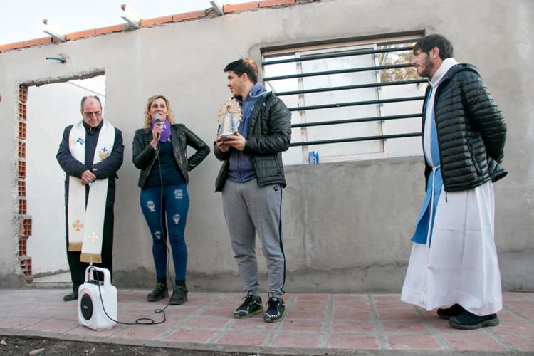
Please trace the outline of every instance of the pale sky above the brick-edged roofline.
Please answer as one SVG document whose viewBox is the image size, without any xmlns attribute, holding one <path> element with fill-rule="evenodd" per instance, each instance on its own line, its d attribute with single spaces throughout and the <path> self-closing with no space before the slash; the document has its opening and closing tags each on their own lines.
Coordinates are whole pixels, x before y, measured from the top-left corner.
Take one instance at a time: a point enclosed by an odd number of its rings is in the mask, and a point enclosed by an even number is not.
<svg viewBox="0 0 534 356">
<path fill-rule="evenodd" d="M 48 36 L 43 32 L 43 19 L 57 23 L 67 33 L 125 23 L 120 18 L 120 4 L 131 6 L 142 19 L 211 7 L 209 0 L 0 0 L 0 44 Z"/>
</svg>

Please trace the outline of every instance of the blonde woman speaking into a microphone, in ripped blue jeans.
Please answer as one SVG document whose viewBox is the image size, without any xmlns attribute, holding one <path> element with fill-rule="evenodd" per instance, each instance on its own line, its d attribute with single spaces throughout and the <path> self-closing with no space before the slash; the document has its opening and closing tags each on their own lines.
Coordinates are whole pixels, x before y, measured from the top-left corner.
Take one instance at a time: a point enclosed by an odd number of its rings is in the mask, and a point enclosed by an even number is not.
<svg viewBox="0 0 534 356">
<path fill-rule="evenodd" d="M 187 158 L 187 146 L 197 152 Z M 133 163 L 141 169 L 139 187 L 143 215 L 152 235 L 152 255 L 157 284 L 147 295 L 151 302 L 167 298 L 167 239 L 169 239 L 176 284 L 171 304 L 187 300 L 187 246 L 184 237 L 189 194 L 188 172 L 209 155 L 209 147 L 185 125 L 174 123 L 169 100 L 163 95 L 149 98 L 145 125 L 135 132 Z"/>
</svg>

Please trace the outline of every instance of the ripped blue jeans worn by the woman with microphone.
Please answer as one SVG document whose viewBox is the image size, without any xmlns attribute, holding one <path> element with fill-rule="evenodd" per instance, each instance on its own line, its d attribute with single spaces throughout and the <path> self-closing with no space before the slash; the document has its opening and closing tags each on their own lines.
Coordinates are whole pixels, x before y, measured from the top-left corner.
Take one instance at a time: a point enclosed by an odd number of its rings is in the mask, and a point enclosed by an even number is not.
<svg viewBox="0 0 534 356">
<path fill-rule="evenodd" d="M 163 198 L 163 199 L 162 199 Z M 141 210 L 152 235 L 152 255 L 157 278 L 167 277 L 167 236 L 171 244 L 176 279 L 185 281 L 187 246 L 185 223 L 189 210 L 189 194 L 185 184 L 141 189 Z"/>
</svg>

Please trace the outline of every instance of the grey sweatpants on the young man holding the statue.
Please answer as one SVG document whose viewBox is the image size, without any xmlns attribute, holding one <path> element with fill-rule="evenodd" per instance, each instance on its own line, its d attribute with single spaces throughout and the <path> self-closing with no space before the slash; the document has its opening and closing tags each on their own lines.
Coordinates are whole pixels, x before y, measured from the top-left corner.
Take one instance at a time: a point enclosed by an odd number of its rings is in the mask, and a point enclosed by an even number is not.
<svg viewBox="0 0 534 356">
<path fill-rule="evenodd" d="M 224 217 L 243 290 L 253 290 L 254 295 L 258 295 L 259 288 L 256 234 L 267 260 L 269 292 L 277 298 L 284 293 L 286 257 L 280 216 L 282 191 L 280 184 L 258 188 L 256 179 L 245 183 L 227 180 L 222 191 Z"/>
</svg>

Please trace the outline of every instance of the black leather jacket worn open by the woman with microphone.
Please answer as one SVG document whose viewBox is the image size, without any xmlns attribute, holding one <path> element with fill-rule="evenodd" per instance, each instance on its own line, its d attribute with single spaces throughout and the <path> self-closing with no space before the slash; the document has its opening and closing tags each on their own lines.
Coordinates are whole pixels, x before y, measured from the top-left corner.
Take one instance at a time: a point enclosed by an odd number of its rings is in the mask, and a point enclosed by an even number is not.
<svg viewBox="0 0 534 356">
<path fill-rule="evenodd" d="M 138 183 L 141 188 L 145 186 L 150 169 L 152 169 L 157 158 L 157 155 L 155 155 L 156 150 L 152 148 L 150 141 L 152 141 L 152 132 L 145 129 L 135 131 L 132 159 L 135 167 L 141 169 Z M 182 124 L 171 125 L 171 143 L 174 159 L 176 159 L 180 172 L 182 172 L 187 184 L 189 183 L 187 172 L 197 167 L 209 155 L 209 146 Z M 187 146 L 197 150 L 189 159 L 186 152 Z"/>
</svg>

